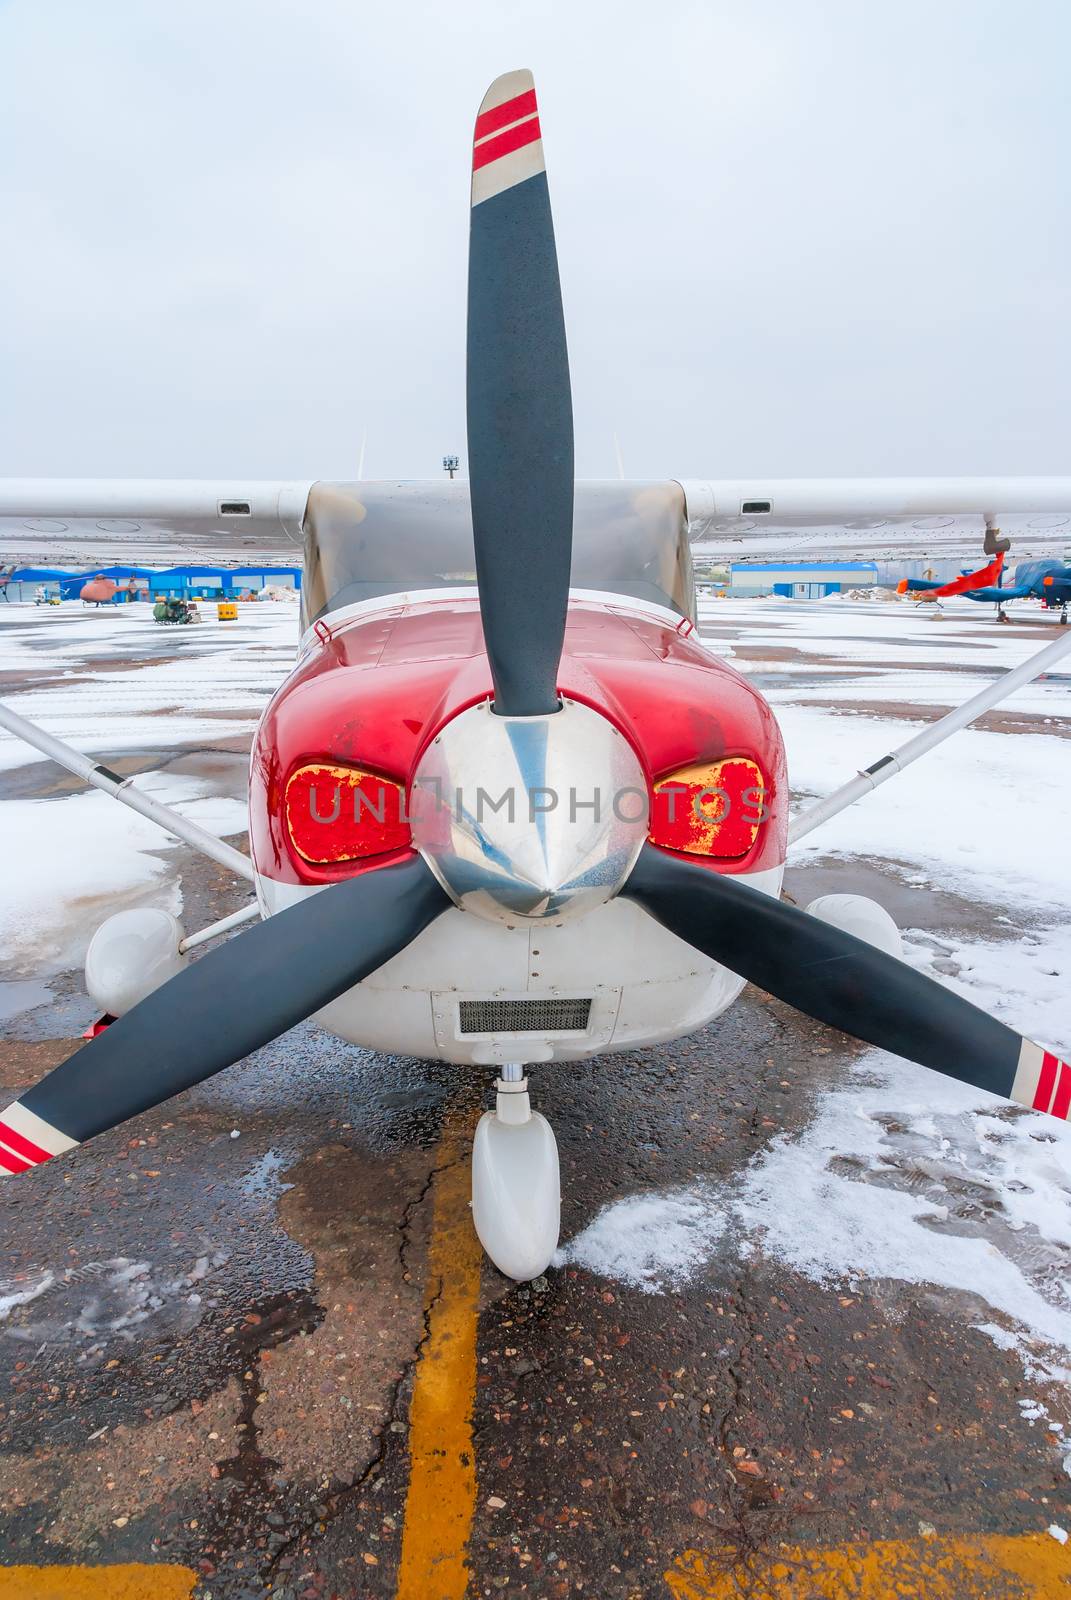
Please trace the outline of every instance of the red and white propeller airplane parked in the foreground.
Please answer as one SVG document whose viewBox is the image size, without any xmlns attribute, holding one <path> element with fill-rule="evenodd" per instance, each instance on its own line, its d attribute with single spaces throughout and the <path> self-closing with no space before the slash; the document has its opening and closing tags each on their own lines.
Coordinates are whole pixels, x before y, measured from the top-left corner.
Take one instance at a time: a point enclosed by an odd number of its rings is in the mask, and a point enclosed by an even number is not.
<svg viewBox="0 0 1071 1600">
<path fill-rule="evenodd" d="M 1066 1118 L 1071 1064 L 906 965 L 880 906 L 780 894 L 792 838 L 1071 637 L 789 818 L 770 706 L 696 634 L 690 539 L 772 515 L 1066 515 L 1071 480 L 575 483 L 530 72 L 498 78 L 475 122 L 467 443 L 467 483 L 0 485 L 0 533 L 53 518 L 67 538 L 85 525 L 218 550 L 237 525 L 245 544 L 301 538 L 306 573 L 298 659 L 253 742 L 251 859 L 0 707 L 3 726 L 256 891 L 191 938 L 157 909 L 98 930 L 86 987 L 117 1021 L 0 1114 L 0 1168 L 27 1173 L 312 1018 L 341 1040 L 496 1070 L 472 1214 L 495 1264 L 531 1278 L 554 1254 L 560 1195 L 525 1069 L 690 1034 L 748 981 Z"/>
</svg>

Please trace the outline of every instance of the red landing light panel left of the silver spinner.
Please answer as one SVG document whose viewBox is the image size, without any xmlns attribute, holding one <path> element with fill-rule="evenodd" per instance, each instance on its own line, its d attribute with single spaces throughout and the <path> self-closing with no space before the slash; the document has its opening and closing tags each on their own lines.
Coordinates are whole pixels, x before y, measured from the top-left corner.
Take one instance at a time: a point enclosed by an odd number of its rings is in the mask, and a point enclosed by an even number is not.
<svg viewBox="0 0 1071 1600">
<path fill-rule="evenodd" d="M 359 766 L 298 766 L 287 782 L 285 810 L 295 850 L 314 866 L 411 843 L 402 786 Z"/>
</svg>

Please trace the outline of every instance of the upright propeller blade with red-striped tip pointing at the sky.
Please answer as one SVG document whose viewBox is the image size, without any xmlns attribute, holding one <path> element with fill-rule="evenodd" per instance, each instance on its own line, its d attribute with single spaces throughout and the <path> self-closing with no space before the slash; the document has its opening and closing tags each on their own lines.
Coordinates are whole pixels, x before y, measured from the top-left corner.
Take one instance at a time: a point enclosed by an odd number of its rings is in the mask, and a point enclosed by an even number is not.
<svg viewBox="0 0 1071 1600">
<path fill-rule="evenodd" d="M 573 402 L 530 72 L 483 96 L 472 146 L 469 493 L 501 717 L 559 709 L 573 547 Z"/>
</svg>

